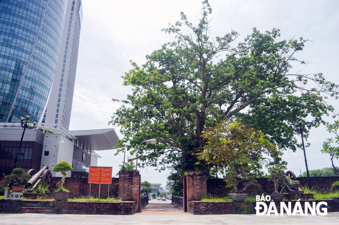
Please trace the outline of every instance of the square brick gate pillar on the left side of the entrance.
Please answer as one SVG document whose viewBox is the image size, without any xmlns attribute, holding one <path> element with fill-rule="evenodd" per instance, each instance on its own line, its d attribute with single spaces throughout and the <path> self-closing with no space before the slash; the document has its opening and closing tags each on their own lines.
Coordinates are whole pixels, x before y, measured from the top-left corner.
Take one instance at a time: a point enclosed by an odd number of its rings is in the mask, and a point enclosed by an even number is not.
<svg viewBox="0 0 339 225">
<path fill-rule="evenodd" d="M 139 171 L 119 172 L 118 197 L 127 201 L 136 201 L 140 209 L 140 175 Z"/>
</svg>

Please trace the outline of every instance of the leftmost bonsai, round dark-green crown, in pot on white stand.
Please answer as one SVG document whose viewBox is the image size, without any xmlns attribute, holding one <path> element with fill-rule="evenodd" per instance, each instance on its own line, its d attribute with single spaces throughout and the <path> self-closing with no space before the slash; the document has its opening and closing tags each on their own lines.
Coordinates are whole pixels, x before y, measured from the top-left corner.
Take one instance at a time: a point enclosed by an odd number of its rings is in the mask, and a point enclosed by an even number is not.
<svg viewBox="0 0 339 225">
<path fill-rule="evenodd" d="M 10 175 L 5 176 L 5 180 L 0 185 L 12 187 L 11 200 L 22 200 L 24 185 L 30 177 L 23 168 L 15 168 Z"/>
</svg>

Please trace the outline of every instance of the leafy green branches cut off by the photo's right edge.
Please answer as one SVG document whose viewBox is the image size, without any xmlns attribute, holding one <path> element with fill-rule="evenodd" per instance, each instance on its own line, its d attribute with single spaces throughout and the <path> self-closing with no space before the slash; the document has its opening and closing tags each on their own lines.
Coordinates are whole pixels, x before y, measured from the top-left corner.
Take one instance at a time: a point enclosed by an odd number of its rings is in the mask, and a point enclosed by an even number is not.
<svg viewBox="0 0 339 225">
<path fill-rule="evenodd" d="M 326 139 L 326 141 L 323 143 L 323 148 L 321 150 L 322 153 L 329 154 L 331 157 L 332 167 L 335 171 L 339 172 L 339 169 L 334 166 L 333 159 L 339 159 L 339 146 L 333 146 L 333 143 L 335 141 L 335 144 L 339 142 L 339 135 L 338 135 L 338 129 L 339 129 L 339 120 L 334 120 L 334 124 L 328 124 L 326 125 L 326 130 L 329 133 L 335 133 L 336 137 Z"/>
</svg>

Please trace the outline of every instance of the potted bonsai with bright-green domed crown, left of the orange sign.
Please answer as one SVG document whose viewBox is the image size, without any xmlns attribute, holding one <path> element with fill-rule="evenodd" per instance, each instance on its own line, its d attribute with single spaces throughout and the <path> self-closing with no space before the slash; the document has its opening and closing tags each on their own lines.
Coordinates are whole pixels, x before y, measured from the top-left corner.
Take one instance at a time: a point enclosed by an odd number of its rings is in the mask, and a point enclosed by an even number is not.
<svg viewBox="0 0 339 225">
<path fill-rule="evenodd" d="M 65 183 L 67 172 L 73 170 L 73 168 L 68 162 L 63 161 L 61 163 L 56 164 L 52 170 L 54 172 L 61 172 L 61 174 L 63 175 L 61 181 L 56 184 L 56 186 L 58 186 L 59 189 L 54 191 L 53 193 L 54 199 L 56 201 L 65 201 L 69 198 L 69 191 L 63 187 L 63 184 Z"/>
</svg>

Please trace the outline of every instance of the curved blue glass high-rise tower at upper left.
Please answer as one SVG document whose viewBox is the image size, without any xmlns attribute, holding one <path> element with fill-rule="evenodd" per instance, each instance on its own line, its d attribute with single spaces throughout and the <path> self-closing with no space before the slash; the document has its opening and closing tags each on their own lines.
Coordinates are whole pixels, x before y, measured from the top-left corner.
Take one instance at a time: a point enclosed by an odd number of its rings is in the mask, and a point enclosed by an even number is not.
<svg viewBox="0 0 339 225">
<path fill-rule="evenodd" d="M 58 64 L 67 0 L 0 1 L 0 122 L 41 119 Z M 67 34 L 66 34 L 67 35 Z"/>
</svg>

